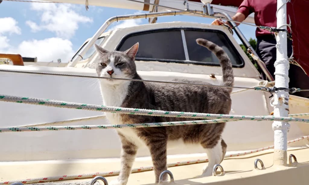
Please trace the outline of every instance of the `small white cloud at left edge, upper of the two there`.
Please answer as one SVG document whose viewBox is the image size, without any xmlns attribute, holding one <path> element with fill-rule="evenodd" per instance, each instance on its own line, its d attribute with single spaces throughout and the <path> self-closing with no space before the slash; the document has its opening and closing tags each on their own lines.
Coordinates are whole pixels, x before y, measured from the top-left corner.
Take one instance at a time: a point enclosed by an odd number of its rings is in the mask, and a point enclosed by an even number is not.
<svg viewBox="0 0 309 185">
<path fill-rule="evenodd" d="M 0 35 L 12 33 L 21 34 L 21 29 L 17 26 L 17 21 L 12 17 L 0 18 Z"/>
</svg>

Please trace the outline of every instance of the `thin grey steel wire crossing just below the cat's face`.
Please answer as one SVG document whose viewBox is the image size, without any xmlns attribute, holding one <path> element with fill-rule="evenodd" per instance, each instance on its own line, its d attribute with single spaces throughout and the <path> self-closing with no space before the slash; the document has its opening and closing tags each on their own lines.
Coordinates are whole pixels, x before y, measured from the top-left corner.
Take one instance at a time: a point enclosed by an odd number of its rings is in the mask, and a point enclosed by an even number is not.
<svg viewBox="0 0 309 185">
<path fill-rule="evenodd" d="M 29 71 L 14 71 L 14 70 L 6 70 L 6 69 L 0 69 L 0 72 L 23 73 L 23 74 L 41 74 L 41 75 L 55 75 L 55 76 L 81 77 L 81 78 L 125 80 L 125 81 L 135 81 L 135 82 L 170 83 L 170 84 L 184 84 L 184 85 L 196 85 L 196 86 L 226 87 L 226 88 L 259 90 L 259 89 L 256 89 L 254 87 L 238 87 L 238 86 L 229 87 L 229 86 L 219 86 L 219 85 L 212 85 L 212 84 L 202 84 L 202 83 L 167 82 L 167 81 L 142 80 L 142 79 L 132 79 L 132 78 L 111 78 L 111 77 L 99 77 L 99 76 L 87 76 L 87 75 L 75 75 L 75 74 L 57 74 L 57 73 L 41 73 L 41 72 L 29 72 Z"/>
</svg>

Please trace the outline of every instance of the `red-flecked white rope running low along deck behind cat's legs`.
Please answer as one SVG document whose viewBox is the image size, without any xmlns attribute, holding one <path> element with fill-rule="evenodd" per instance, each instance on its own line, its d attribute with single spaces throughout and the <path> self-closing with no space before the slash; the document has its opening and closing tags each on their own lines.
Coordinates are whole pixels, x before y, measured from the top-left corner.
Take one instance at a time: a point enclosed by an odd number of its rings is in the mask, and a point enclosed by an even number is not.
<svg viewBox="0 0 309 185">
<path fill-rule="evenodd" d="M 291 141 L 288 141 L 287 143 L 295 143 L 304 139 L 309 138 L 309 136 L 303 136 Z M 224 158 L 231 158 L 231 157 L 238 157 L 243 155 L 248 155 L 252 153 L 257 153 L 260 151 L 264 151 L 267 149 L 273 149 L 273 145 L 258 148 L 258 149 L 252 149 L 240 153 L 232 153 L 232 154 L 226 154 Z M 182 162 L 173 162 L 168 163 L 167 167 L 176 167 L 176 166 L 184 166 L 184 165 L 191 165 L 191 164 L 198 164 L 198 163 L 204 163 L 208 162 L 208 159 L 197 159 L 197 160 L 190 160 L 190 161 L 182 161 Z M 153 166 L 146 166 L 146 167 L 140 167 L 140 168 L 134 168 L 132 169 L 132 173 L 138 173 L 143 171 L 151 171 L 153 170 Z M 64 180 L 71 180 L 71 179 L 90 179 L 95 176 L 103 176 L 103 177 L 110 177 L 110 176 L 116 176 L 119 175 L 120 171 L 109 171 L 109 172 L 97 172 L 97 173 L 89 173 L 89 174 L 76 174 L 76 175 L 61 175 L 61 176 L 54 176 L 54 177 L 44 177 L 44 178 L 33 178 L 33 179 L 24 179 L 24 180 L 14 180 L 14 181 L 6 181 L 1 182 L 0 185 L 8 185 L 14 182 L 21 182 L 23 184 L 31 184 L 31 183 L 44 183 L 44 182 L 52 182 L 52 181 L 64 181 Z"/>
</svg>

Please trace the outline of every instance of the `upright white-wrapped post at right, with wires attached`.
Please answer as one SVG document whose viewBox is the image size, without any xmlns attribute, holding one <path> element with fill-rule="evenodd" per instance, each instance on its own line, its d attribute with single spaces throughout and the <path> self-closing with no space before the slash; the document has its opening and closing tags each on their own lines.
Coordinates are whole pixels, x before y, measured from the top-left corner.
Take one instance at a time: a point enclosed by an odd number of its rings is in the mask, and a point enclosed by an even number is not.
<svg viewBox="0 0 309 185">
<path fill-rule="evenodd" d="M 277 0 L 277 28 L 286 29 L 286 0 Z M 275 61 L 275 86 L 289 87 L 289 67 L 287 60 L 287 35 L 280 31 L 276 34 L 277 60 Z M 289 92 L 278 90 L 274 95 L 274 116 L 288 116 L 289 114 Z M 290 124 L 287 122 L 274 121 L 274 165 L 287 164 L 287 132 Z"/>
</svg>

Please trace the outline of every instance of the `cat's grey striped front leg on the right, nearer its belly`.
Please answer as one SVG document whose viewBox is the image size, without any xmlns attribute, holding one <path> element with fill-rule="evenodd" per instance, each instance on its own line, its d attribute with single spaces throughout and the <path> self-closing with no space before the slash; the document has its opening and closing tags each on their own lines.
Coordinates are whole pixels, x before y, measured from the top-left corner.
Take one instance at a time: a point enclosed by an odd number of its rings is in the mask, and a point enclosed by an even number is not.
<svg viewBox="0 0 309 185">
<path fill-rule="evenodd" d="M 156 133 L 158 134 L 158 133 Z M 155 135 L 155 134 L 154 134 Z M 152 163 L 155 171 L 155 183 L 159 183 L 159 175 L 167 169 L 167 137 L 161 135 L 159 137 L 152 137 L 148 139 L 147 145 L 150 149 Z M 167 175 L 164 175 L 163 181 L 167 180 Z"/>
</svg>

